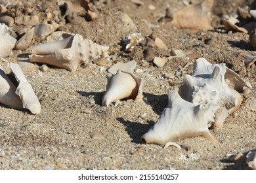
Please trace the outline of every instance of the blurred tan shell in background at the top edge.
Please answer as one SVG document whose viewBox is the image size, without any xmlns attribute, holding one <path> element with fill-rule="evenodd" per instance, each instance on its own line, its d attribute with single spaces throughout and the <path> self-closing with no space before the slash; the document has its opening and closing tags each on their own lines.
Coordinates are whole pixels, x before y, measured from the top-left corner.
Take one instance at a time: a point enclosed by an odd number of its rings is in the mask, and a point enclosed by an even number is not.
<svg viewBox="0 0 256 183">
<path fill-rule="evenodd" d="M 212 29 L 210 12 L 213 0 L 205 0 L 196 5 L 177 10 L 173 14 L 172 24 L 180 29 L 189 29 L 195 33 L 199 29 Z"/>
</svg>

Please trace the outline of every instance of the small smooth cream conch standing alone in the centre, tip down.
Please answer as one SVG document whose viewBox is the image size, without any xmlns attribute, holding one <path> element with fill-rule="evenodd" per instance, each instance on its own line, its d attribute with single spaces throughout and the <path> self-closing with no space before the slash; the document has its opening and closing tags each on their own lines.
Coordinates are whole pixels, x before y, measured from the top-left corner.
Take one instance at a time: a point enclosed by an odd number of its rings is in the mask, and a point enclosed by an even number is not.
<svg viewBox="0 0 256 183">
<path fill-rule="evenodd" d="M 102 97 L 102 106 L 108 105 L 115 100 L 120 99 L 135 99 L 142 100 L 142 79 L 133 75 L 118 70 L 116 75 L 107 75 L 108 84 L 106 93 Z"/>
</svg>

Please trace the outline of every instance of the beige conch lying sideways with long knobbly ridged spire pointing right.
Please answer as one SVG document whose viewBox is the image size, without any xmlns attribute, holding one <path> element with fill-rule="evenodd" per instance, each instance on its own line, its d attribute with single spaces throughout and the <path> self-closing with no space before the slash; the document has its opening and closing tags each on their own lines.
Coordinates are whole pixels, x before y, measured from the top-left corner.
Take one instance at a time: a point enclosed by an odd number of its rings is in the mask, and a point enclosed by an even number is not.
<svg viewBox="0 0 256 183">
<path fill-rule="evenodd" d="M 56 67 L 76 71 L 81 63 L 105 54 L 108 46 L 100 46 L 85 39 L 81 35 L 73 35 L 66 39 L 34 46 L 30 61 L 47 63 Z"/>
</svg>

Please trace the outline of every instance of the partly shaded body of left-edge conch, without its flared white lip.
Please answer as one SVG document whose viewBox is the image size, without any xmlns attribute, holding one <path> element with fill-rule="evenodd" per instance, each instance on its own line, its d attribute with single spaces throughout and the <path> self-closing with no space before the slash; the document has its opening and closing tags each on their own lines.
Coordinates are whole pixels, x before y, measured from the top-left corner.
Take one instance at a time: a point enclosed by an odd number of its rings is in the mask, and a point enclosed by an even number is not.
<svg viewBox="0 0 256 183">
<path fill-rule="evenodd" d="M 9 77 L 3 71 L 0 64 L 0 103 L 7 107 L 15 108 L 18 110 L 23 109 L 22 100 L 16 95 L 16 86 L 11 82 Z"/>
</svg>

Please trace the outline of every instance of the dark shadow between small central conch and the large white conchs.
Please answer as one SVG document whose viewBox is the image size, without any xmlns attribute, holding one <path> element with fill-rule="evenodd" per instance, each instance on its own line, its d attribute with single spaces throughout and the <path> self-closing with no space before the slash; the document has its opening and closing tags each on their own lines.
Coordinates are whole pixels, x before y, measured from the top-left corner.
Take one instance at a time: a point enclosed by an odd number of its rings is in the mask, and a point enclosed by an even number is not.
<svg viewBox="0 0 256 183">
<path fill-rule="evenodd" d="M 144 101 L 152 107 L 156 114 L 160 115 L 163 109 L 168 105 L 168 95 L 154 95 L 152 93 L 143 93 Z"/>
</svg>

